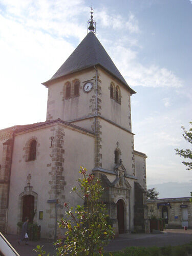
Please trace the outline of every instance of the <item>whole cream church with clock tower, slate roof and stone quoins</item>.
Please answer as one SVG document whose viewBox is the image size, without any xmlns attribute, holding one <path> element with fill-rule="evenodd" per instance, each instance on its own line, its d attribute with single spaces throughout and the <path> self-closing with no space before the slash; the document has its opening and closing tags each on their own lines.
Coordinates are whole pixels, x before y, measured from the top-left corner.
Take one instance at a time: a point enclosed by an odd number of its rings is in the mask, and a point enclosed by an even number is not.
<svg viewBox="0 0 192 256">
<path fill-rule="evenodd" d="M 130 88 L 95 35 L 88 33 L 46 82 L 45 122 L 0 131 L 0 230 L 18 233 L 29 217 L 54 238 L 80 166 L 101 179 L 115 234 L 146 232 L 146 155 L 134 150 Z M 57 219 L 56 219 L 57 218 Z M 61 230 L 57 228 L 57 235 Z"/>
</svg>

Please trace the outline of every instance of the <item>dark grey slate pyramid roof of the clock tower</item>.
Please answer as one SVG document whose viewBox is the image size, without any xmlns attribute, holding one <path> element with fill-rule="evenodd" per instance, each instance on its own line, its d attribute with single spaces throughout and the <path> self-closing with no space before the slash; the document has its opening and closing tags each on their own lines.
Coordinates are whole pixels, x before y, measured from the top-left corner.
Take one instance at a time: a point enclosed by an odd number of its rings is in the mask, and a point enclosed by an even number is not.
<svg viewBox="0 0 192 256">
<path fill-rule="evenodd" d="M 88 33 L 87 36 L 84 37 L 74 52 L 57 70 L 52 78 L 42 84 L 46 85 L 47 82 L 56 78 L 72 74 L 95 65 L 100 65 L 103 69 L 119 79 L 127 87 L 127 89 L 131 91 L 132 94 L 136 93 L 129 87 L 110 56 L 101 45 L 100 41 L 92 32 Z"/>
</svg>

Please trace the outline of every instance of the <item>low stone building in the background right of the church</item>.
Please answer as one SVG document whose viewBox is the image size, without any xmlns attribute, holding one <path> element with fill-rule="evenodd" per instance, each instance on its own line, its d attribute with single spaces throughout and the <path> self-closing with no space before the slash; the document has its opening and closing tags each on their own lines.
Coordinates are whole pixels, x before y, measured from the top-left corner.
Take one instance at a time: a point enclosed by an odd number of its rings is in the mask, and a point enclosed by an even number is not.
<svg viewBox="0 0 192 256">
<path fill-rule="evenodd" d="M 148 218 L 164 218 L 167 228 L 192 228 L 192 204 L 189 197 L 147 200 Z"/>
</svg>

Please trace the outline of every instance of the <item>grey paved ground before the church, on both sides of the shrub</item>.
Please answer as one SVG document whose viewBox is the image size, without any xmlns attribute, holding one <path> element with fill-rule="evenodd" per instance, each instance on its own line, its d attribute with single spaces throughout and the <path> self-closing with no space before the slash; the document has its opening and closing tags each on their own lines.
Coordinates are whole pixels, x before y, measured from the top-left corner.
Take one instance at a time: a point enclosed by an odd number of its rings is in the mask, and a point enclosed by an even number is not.
<svg viewBox="0 0 192 256">
<path fill-rule="evenodd" d="M 37 255 L 32 251 L 36 245 L 44 245 L 46 251 L 50 252 L 50 256 L 54 255 L 53 241 L 41 239 L 40 241 L 29 241 L 29 245 L 18 245 L 17 236 L 7 234 L 7 240 L 20 254 L 20 256 Z M 160 234 L 121 234 L 106 246 L 106 251 L 116 251 L 127 246 L 165 246 L 165 245 L 181 245 L 192 241 L 192 229 L 165 229 Z"/>
</svg>

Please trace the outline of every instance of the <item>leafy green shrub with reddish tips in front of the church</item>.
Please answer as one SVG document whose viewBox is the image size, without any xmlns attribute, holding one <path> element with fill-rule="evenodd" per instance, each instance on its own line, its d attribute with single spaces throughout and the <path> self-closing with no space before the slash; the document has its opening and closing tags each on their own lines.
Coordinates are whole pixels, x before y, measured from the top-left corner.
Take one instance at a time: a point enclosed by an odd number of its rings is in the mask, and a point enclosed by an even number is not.
<svg viewBox="0 0 192 256">
<path fill-rule="evenodd" d="M 114 236 L 113 228 L 109 224 L 109 215 L 106 206 L 101 202 L 104 188 L 100 180 L 93 174 L 87 175 L 87 169 L 81 167 L 82 178 L 78 179 L 79 187 L 73 187 L 72 192 L 76 193 L 84 205 L 66 207 L 66 219 L 59 222 L 59 227 L 66 231 L 65 241 L 57 240 L 56 255 L 103 255 L 103 246 Z M 38 255 L 45 255 L 42 246 L 35 249 Z M 48 254 L 49 255 L 49 254 Z"/>
</svg>

